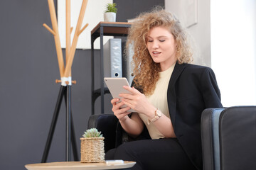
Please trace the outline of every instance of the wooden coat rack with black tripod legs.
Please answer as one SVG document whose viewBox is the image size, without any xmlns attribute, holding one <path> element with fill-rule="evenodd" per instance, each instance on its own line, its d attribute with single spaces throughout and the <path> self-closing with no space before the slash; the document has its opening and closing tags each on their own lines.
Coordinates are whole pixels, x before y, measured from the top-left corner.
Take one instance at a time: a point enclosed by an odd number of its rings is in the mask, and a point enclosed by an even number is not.
<svg viewBox="0 0 256 170">
<path fill-rule="evenodd" d="M 53 0 L 48 0 L 48 6 L 50 11 L 50 20 L 53 26 L 51 29 L 46 23 L 43 23 L 43 26 L 53 34 L 55 40 L 55 48 L 58 57 L 58 67 L 60 69 L 60 80 L 56 80 L 56 83 L 60 84 L 60 91 L 58 94 L 57 103 L 55 105 L 55 111 L 53 113 L 53 119 L 50 125 L 50 130 L 48 133 L 48 138 L 46 141 L 46 147 L 43 152 L 42 163 L 46 162 L 48 157 L 48 152 L 50 149 L 50 144 L 53 139 L 53 133 L 55 130 L 55 125 L 58 119 L 58 113 L 60 111 L 61 101 L 65 97 L 65 106 L 66 106 L 66 137 L 65 137 L 65 161 L 70 162 L 71 160 L 71 142 L 73 146 L 73 154 L 75 161 L 78 161 L 78 152 L 75 142 L 75 130 L 73 126 L 73 118 L 71 113 L 71 86 L 76 84 L 76 81 L 72 81 L 71 78 L 71 67 L 73 64 L 73 59 L 75 56 L 75 49 L 78 44 L 78 37 L 85 28 L 87 28 L 88 23 L 81 29 L 82 20 L 85 16 L 85 8 L 87 6 L 87 0 L 82 1 L 82 6 L 78 18 L 78 23 L 75 28 L 75 35 L 73 37 L 73 42 L 71 45 L 70 34 L 73 28 L 70 27 L 70 0 L 66 0 L 66 49 L 65 49 L 65 58 L 66 64 L 64 65 L 63 61 L 63 52 L 60 47 L 60 35 L 58 33 L 58 23 L 55 12 L 55 6 Z M 70 46 L 71 45 L 71 46 Z M 71 141 L 72 140 L 72 141 Z"/>
</svg>

